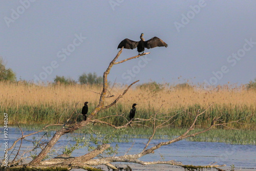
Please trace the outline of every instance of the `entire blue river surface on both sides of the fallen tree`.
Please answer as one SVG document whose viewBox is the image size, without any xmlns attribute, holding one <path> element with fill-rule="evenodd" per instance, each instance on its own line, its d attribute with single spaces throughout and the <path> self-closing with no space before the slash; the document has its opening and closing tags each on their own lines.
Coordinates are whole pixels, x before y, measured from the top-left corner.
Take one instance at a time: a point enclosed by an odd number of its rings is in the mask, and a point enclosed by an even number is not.
<svg viewBox="0 0 256 171">
<path fill-rule="evenodd" d="M 1 140 L 4 142 L 4 129 L 1 130 Z M 24 135 L 30 134 L 32 131 L 25 131 Z M 51 134 L 51 136 L 53 133 Z M 12 143 L 20 137 L 20 131 L 14 127 L 9 127 L 8 129 L 8 146 L 10 147 Z M 34 136 L 30 136 L 27 139 L 32 140 L 33 137 L 35 139 L 39 139 L 40 135 L 36 134 Z M 50 139 L 50 137 L 49 137 Z M 63 147 L 68 143 L 74 143 L 74 141 L 70 140 L 69 136 L 62 136 L 59 140 L 59 143 L 56 144 L 55 149 L 61 154 Z M 44 140 L 44 139 L 42 139 Z M 45 139 L 46 140 L 46 139 Z M 124 155 L 129 148 L 133 145 L 130 151 L 127 154 L 135 154 L 140 152 L 147 142 L 147 139 L 132 139 L 133 142 L 118 142 L 118 154 Z M 167 140 L 152 140 L 151 144 L 157 144 L 162 141 Z M 134 143 L 134 144 L 133 144 Z M 16 149 L 18 149 L 20 143 L 17 143 Z M 115 146 L 116 143 L 112 143 L 111 145 Z M 29 141 L 23 141 L 22 150 L 26 150 L 28 148 L 32 148 L 32 144 Z M 151 147 L 151 146 L 150 146 Z M 0 156 L 4 156 L 4 144 L 1 143 L 0 146 Z M 37 153 L 40 151 L 37 151 Z M 88 152 L 87 148 L 76 149 L 72 156 L 81 156 Z M 10 155 L 11 152 L 8 152 Z M 12 156 L 14 157 L 14 156 Z M 3 158 L 3 157 L 2 157 Z M 176 160 L 182 162 L 183 164 L 191 164 L 191 165 L 208 165 L 210 163 L 217 162 L 217 164 L 222 165 L 226 164 L 226 166 L 222 167 L 223 169 L 229 169 L 230 165 L 235 166 L 235 170 L 256 170 L 256 145 L 234 145 L 234 144 L 226 144 L 226 143 L 218 143 L 218 142 L 194 142 L 194 141 L 186 141 L 181 140 L 170 145 L 162 146 L 155 151 L 154 154 L 146 155 L 140 158 L 142 161 L 168 161 L 168 160 Z M 137 164 L 131 163 L 113 163 L 114 165 L 126 166 L 132 165 L 133 170 L 184 170 L 183 168 L 177 168 L 169 165 L 151 165 L 151 166 L 141 166 Z M 78 169 L 76 169 L 78 170 Z M 108 170 L 108 169 L 107 169 Z"/>
</svg>

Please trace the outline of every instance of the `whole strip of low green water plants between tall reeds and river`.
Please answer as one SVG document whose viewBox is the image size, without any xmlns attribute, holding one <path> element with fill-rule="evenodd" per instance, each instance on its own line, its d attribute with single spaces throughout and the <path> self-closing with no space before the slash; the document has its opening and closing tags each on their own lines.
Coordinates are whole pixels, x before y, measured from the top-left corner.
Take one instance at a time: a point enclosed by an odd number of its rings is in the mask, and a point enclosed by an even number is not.
<svg viewBox="0 0 256 171">
<path fill-rule="evenodd" d="M 21 125 L 23 127 L 23 131 L 35 131 L 40 130 L 44 125 Z M 59 126 L 49 127 L 49 130 L 58 129 Z M 87 133 L 88 127 L 83 130 L 76 131 L 75 133 Z M 114 129 L 109 126 L 99 126 L 92 125 L 93 132 L 100 133 L 101 135 L 108 134 Z M 187 129 L 178 129 L 178 128 L 165 128 L 157 130 L 154 139 L 163 139 L 170 140 L 182 135 Z M 190 131 L 190 133 L 201 131 L 202 129 L 195 129 Z M 17 129 L 17 131 L 19 131 Z M 50 136 L 53 136 L 54 132 L 50 132 Z M 90 134 L 85 134 L 86 138 L 90 138 Z M 115 133 L 116 137 L 114 138 L 115 142 L 132 142 L 134 138 L 148 138 L 152 135 L 152 129 L 148 127 L 127 127 L 120 132 Z M 187 138 L 187 141 L 203 141 L 203 142 L 224 142 L 229 144 L 250 144 L 256 145 L 256 132 L 255 131 L 240 131 L 240 130 L 226 130 L 226 129 L 212 129 L 208 132 L 202 133 L 195 137 Z"/>
</svg>

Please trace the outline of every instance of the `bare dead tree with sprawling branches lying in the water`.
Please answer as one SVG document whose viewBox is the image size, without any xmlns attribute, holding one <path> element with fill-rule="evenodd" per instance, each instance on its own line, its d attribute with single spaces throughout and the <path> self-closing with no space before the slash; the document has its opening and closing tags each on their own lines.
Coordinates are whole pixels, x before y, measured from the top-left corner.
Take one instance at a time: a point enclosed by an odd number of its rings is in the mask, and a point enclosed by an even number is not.
<svg viewBox="0 0 256 171">
<path fill-rule="evenodd" d="M 110 62 L 109 67 L 106 69 L 106 71 L 103 74 L 103 90 L 100 94 L 100 99 L 99 99 L 99 104 L 96 106 L 96 108 L 91 112 L 91 115 L 88 117 L 88 119 L 86 121 L 81 121 L 81 122 L 76 122 L 75 124 L 72 125 L 68 125 L 68 124 L 51 124 L 51 125 L 61 125 L 61 129 L 59 129 L 58 131 L 56 131 L 56 133 L 53 135 L 53 137 L 51 138 L 51 140 L 49 142 L 47 142 L 45 144 L 45 146 L 41 149 L 41 152 L 28 164 L 23 164 L 23 165 L 18 165 L 20 160 L 14 160 L 12 162 L 9 163 L 9 166 L 12 169 L 19 169 L 21 167 L 23 168 L 28 168 L 28 169 L 48 169 L 49 167 L 54 170 L 58 170 L 58 169 L 66 169 L 66 170 L 70 170 L 72 168 L 83 168 L 86 170 L 100 170 L 100 169 L 96 169 L 93 166 L 97 166 L 99 164 L 104 164 L 112 169 L 117 169 L 113 164 L 113 162 L 131 162 L 131 163 L 138 163 L 138 164 L 142 164 L 142 165 L 150 165 L 150 164 L 170 164 L 170 165 L 176 165 L 176 166 L 181 166 L 184 168 L 188 168 L 188 167 L 193 167 L 193 168 L 217 168 L 220 167 L 222 165 L 214 165 L 214 164 L 210 164 L 210 165 L 206 165 L 206 166 L 187 166 L 187 165 L 183 165 L 181 162 L 176 162 L 176 161 L 152 161 L 152 162 L 145 162 L 145 161 L 141 161 L 139 160 L 140 157 L 147 155 L 147 154 L 151 154 L 154 153 L 154 151 L 158 148 L 160 148 L 163 145 L 168 145 L 177 141 L 180 141 L 182 139 L 188 138 L 188 137 L 194 137 L 197 136 L 198 134 L 204 133 L 206 131 L 209 131 L 210 129 L 212 129 L 212 127 L 216 126 L 216 125 L 226 125 L 228 123 L 217 123 L 217 121 L 219 120 L 219 118 L 215 118 L 214 120 L 212 120 L 211 125 L 208 126 L 207 129 L 200 131 L 200 132 L 196 132 L 196 133 L 190 133 L 191 130 L 194 129 L 195 123 L 197 121 L 197 118 L 200 115 L 203 115 L 205 113 L 205 111 L 208 109 L 206 109 L 203 112 L 198 112 L 197 116 L 194 118 L 194 122 L 190 125 L 190 127 L 187 129 L 186 132 L 184 132 L 181 136 L 179 136 L 178 138 L 174 138 L 172 140 L 168 140 L 165 142 L 160 142 L 157 145 L 154 145 L 151 148 L 148 148 L 148 145 L 150 145 L 151 140 L 153 139 L 156 130 L 160 129 L 162 127 L 166 127 L 169 124 L 171 124 L 172 122 L 170 122 L 175 115 L 179 115 L 179 113 L 175 114 L 174 116 L 170 116 L 170 117 L 161 117 L 162 114 L 158 114 L 155 113 L 154 115 L 151 116 L 150 119 L 140 119 L 137 118 L 135 120 L 132 121 L 127 121 L 126 124 L 122 125 L 122 126 L 116 126 L 113 125 L 111 123 L 102 121 L 100 119 L 96 119 L 96 115 L 99 111 L 104 110 L 104 109 L 108 109 L 111 106 L 113 106 L 115 103 L 118 102 L 118 100 L 120 98 L 122 98 L 124 96 L 124 94 L 131 88 L 131 86 L 133 86 L 133 84 L 135 84 L 136 82 L 138 82 L 139 80 L 133 82 L 130 84 L 130 86 L 128 86 L 123 93 L 121 93 L 118 97 L 115 98 L 115 100 L 110 103 L 109 105 L 105 105 L 104 101 L 105 98 L 108 97 L 108 95 L 106 95 L 106 93 L 108 92 L 108 74 L 110 73 L 111 68 L 114 65 L 117 65 L 119 63 L 125 62 L 127 60 L 131 60 L 143 55 L 146 55 L 148 53 L 143 53 L 131 58 L 127 58 L 124 59 L 122 61 L 116 62 L 116 60 L 118 59 L 119 55 L 121 54 L 122 49 L 118 52 L 118 54 L 116 55 L 116 57 Z M 210 107 L 210 106 L 209 106 Z M 73 116 L 73 113 L 71 114 L 70 118 Z M 122 115 L 119 115 L 120 117 L 124 117 Z M 116 117 L 116 116 L 115 116 Z M 69 120 L 69 119 L 68 119 Z M 153 133 L 152 136 L 148 139 L 148 142 L 146 143 L 144 149 L 142 149 L 141 152 L 137 153 L 137 154 L 132 154 L 132 155 L 123 155 L 123 156 L 113 156 L 113 157 L 104 157 L 104 158 L 96 158 L 99 154 L 103 153 L 106 149 L 108 149 L 110 147 L 110 144 L 101 144 L 100 146 L 98 146 L 96 149 L 94 149 L 93 151 L 89 152 L 88 154 L 85 154 L 83 156 L 79 156 L 79 157 L 70 157 L 70 156 L 65 156 L 65 155 L 61 155 L 49 160 L 44 160 L 42 161 L 47 155 L 48 153 L 51 151 L 51 149 L 54 147 L 54 145 L 56 144 L 56 142 L 60 139 L 61 136 L 68 134 L 68 133 L 72 133 L 76 130 L 82 129 L 84 126 L 88 125 L 89 123 L 92 122 L 98 122 L 101 124 L 106 124 L 109 126 L 114 127 L 115 129 L 120 129 L 122 127 L 127 127 L 130 124 L 136 124 L 138 122 L 141 121 L 149 121 L 152 123 L 152 127 L 153 127 Z M 174 120 L 175 121 L 175 120 Z M 173 122 L 174 122 L 173 121 Z M 44 131 L 48 126 L 45 126 L 41 131 L 38 132 L 42 132 Z M 20 129 L 21 130 L 21 129 Z M 22 131 L 22 130 L 21 130 Z M 38 133 L 36 132 L 36 133 Z M 22 132 L 23 133 L 23 132 Z M 36 133 L 32 133 L 30 135 L 36 134 Z M 8 151 L 10 151 L 12 148 L 14 148 L 15 144 L 18 141 L 22 141 L 24 138 L 26 138 L 27 136 L 30 135 L 22 135 L 22 137 L 18 138 L 13 145 L 8 149 Z M 2 164 L 2 168 L 3 168 L 3 164 Z"/>
</svg>

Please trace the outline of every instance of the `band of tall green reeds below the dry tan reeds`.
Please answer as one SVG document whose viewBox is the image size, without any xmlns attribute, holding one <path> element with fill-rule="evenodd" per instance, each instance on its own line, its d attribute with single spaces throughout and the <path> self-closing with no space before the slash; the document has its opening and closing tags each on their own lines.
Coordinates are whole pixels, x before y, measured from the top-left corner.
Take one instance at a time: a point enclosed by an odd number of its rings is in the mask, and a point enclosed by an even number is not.
<svg viewBox="0 0 256 171">
<path fill-rule="evenodd" d="M 94 104 L 89 106 L 89 112 L 93 110 Z M 193 120 L 197 114 L 198 109 L 200 111 L 204 111 L 205 109 L 200 106 L 199 104 L 196 105 L 189 105 L 187 108 L 173 108 L 169 109 L 169 111 L 177 111 L 181 112 L 185 110 L 185 112 L 180 113 L 179 115 L 175 116 L 170 122 L 173 122 L 176 120 L 170 127 L 173 128 L 185 128 L 188 127 L 191 123 L 193 123 Z M 70 114 L 73 111 L 73 105 L 68 105 L 62 103 L 62 105 L 56 105 L 56 104 L 40 104 L 40 105 L 19 105 L 19 106 L 8 106 L 7 109 L 3 109 L 0 106 L 0 113 L 8 113 L 9 118 L 9 125 L 15 125 L 15 121 L 18 121 L 22 124 L 50 124 L 50 123 L 56 123 L 58 122 L 60 116 L 60 123 L 64 123 L 70 116 Z M 140 109 L 137 108 L 136 116 L 135 118 L 143 118 L 148 119 L 150 118 L 157 109 L 151 108 L 148 106 L 148 109 Z M 174 116 L 177 112 L 168 112 L 166 114 L 163 114 L 162 116 Z M 76 114 L 81 113 L 81 109 L 76 109 L 75 115 L 73 116 L 71 122 L 74 122 L 76 118 Z M 125 109 L 124 106 L 121 104 L 117 104 L 113 106 L 113 108 L 110 108 L 108 110 L 100 111 L 96 118 L 101 118 L 105 116 L 111 116 L 111 115 L 120 115 L 123 114 L 128 119 L 129 118 L 129 110 Z M 196 127 L 199 128 L 205 128 L 211 124 L 211 120 L 214 117 L 221 117 L 225 122 L 231 122 L 238 119 L 241 119 L 243 117 L 255 114 L 256 111 L 254 110 L 254 107 L 251 106 L 236 106 L 232 104 L 227 105 L 212 105 L 210 109 L 206 111 L 205 114 L 198 117 L 198 120 L 196 122 Z M 82 117 L 78 117 L 78 122 L 82 120 Z M 114 116 L 105 118 L 104 121 L 110 122 L 115 125 L 123 125 L 126 123 L 126 120 L 122 117 Z M 241 120 L 240 123 L 232 123 L 229 124 L 230 127 L 234 127 L 236 129 L 243 129 L 243 130 L 256 130 L 256 117 L 249 116 L 245 119 Z M 3 124 L 3 120 L 0 120 L 0 123 Z M 145 124 L 147 126 L 151 126 L 150 122 L 142 122 L 142 124 Z"/>
</svg>

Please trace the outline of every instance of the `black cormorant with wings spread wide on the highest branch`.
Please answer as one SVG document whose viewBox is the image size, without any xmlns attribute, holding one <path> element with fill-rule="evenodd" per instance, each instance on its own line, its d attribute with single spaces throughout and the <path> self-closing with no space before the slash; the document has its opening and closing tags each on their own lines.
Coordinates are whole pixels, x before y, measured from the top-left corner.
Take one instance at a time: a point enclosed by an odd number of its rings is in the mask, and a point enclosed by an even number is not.
<svg viewBox="0 0 256 171">
<path fill-rule="evenodd" d="M 150 48 L 155 48 L 155 47 L 165 47 L 167 48 L 167 44 L 161 40 L 158 37 L 153 37 L 147 41 L 142 37 L 144 34 L 141 33 L 140 35 L 140 41 L 133 41 L 128 38 L 123 39 L 120 44 L 118 45 L 118 48 L 125 48 L 125 49 L 135 49 L 137 48 L 139 54 L 140 52 L 144 53 L 145 48 L 150 49 Z"/>
</svg>

